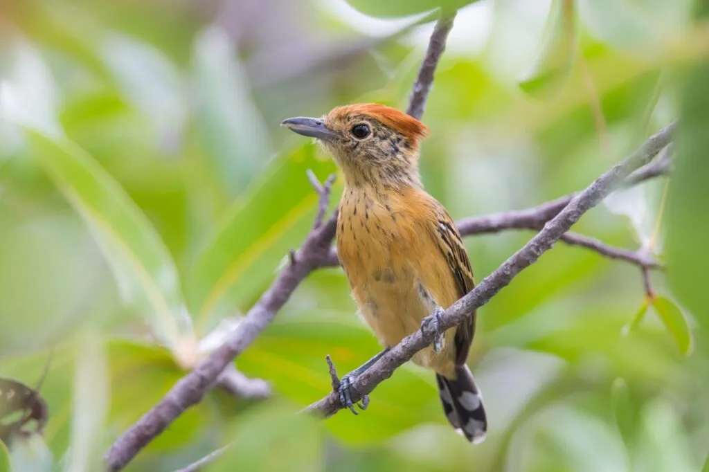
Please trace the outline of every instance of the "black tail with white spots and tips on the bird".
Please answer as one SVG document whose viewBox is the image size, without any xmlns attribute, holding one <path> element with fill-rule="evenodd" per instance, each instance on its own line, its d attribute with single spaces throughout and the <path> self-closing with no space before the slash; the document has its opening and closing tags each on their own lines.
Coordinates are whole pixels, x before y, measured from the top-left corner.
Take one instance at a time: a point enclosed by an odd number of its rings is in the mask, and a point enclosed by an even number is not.
<svg viewBox="0 0 709 472">
<path fill-rule="evenodd" d="M 456 378 L 436 374 L 443 411 L 450 424 L 468 441 L 479 444 L 484 441 L 487 431 L 483 397 L 468 366 L 457 366 L 455 373 Z"/>
</svg>

